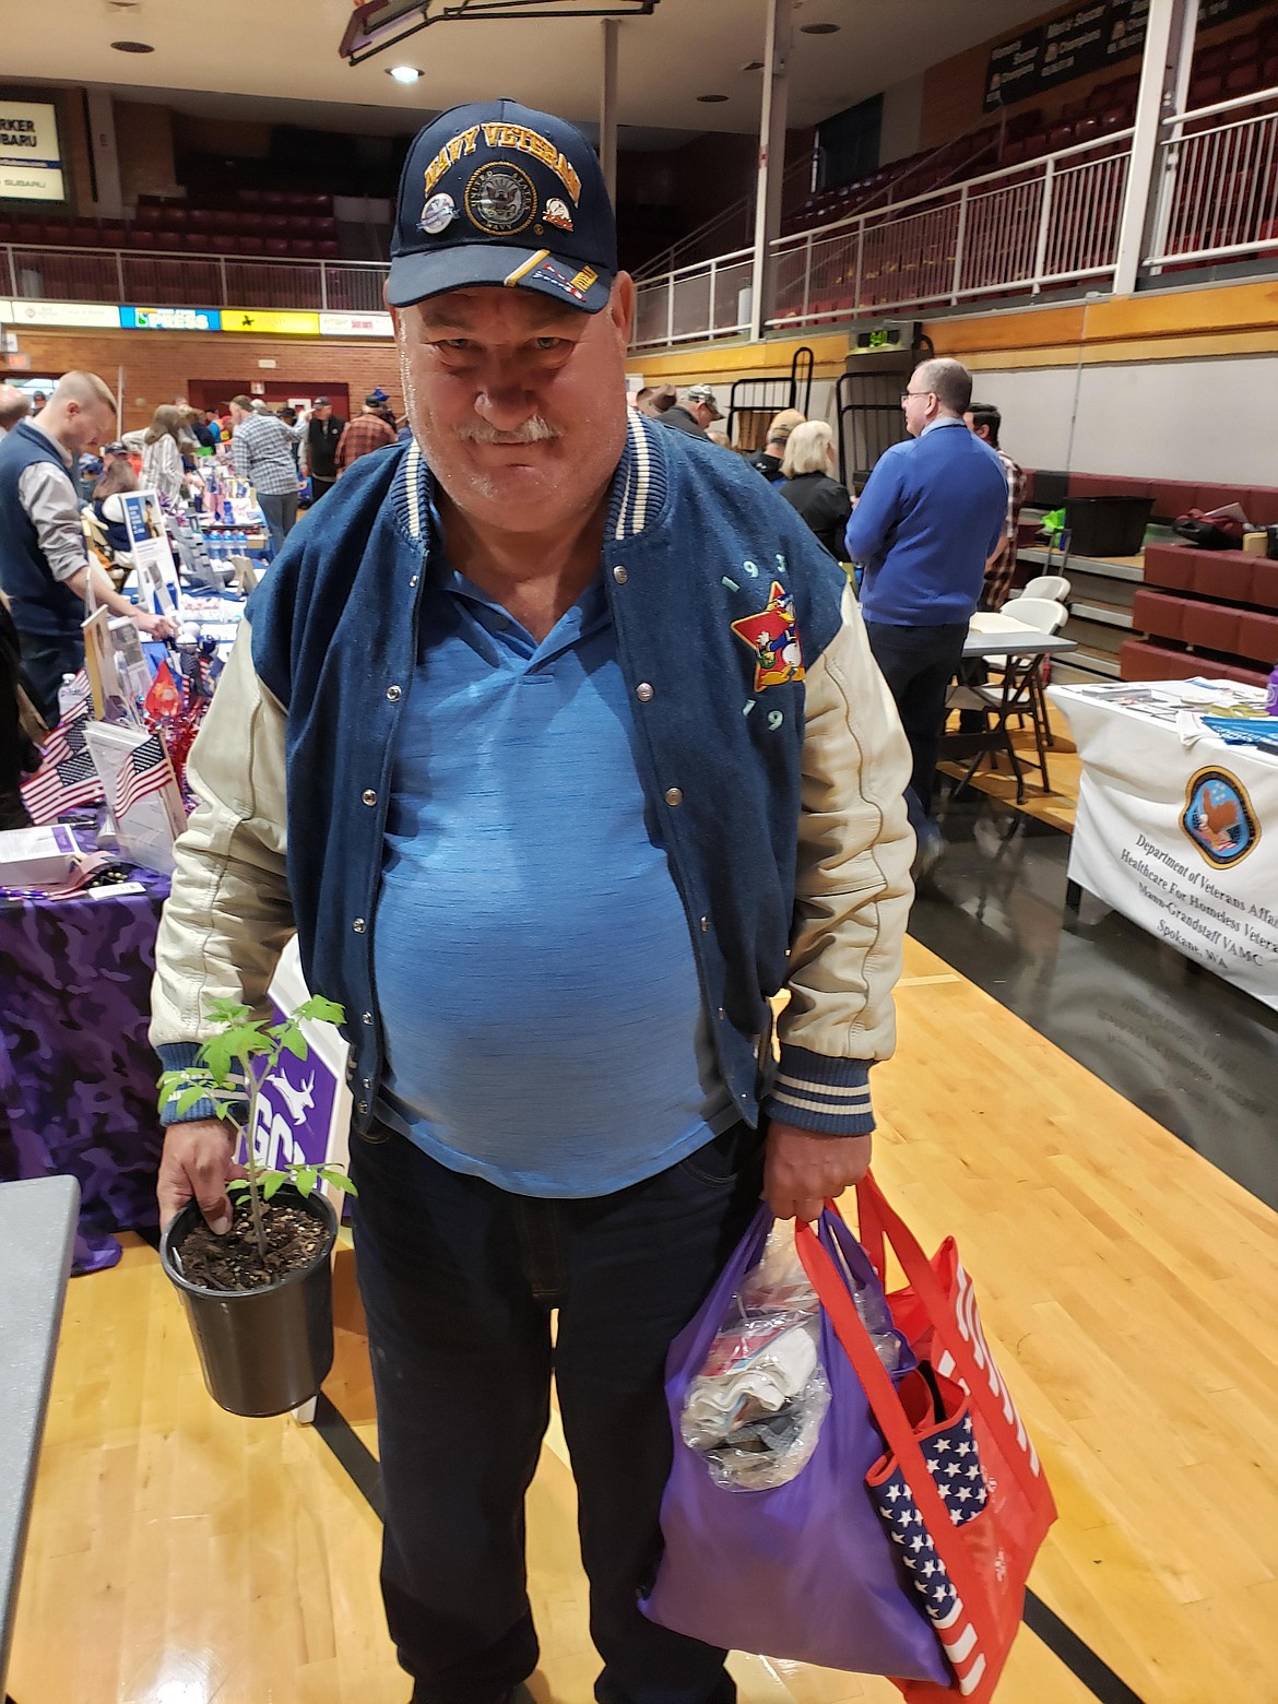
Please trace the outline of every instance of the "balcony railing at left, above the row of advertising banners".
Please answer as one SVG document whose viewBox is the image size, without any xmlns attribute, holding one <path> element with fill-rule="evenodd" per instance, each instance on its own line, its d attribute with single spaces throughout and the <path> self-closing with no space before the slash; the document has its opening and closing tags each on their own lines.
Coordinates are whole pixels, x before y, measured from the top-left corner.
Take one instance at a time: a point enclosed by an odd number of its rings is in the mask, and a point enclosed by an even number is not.
<svg viewBox="0 0 1278 1704">
<path fill-rule="evenodd" d="M 375 261 L 259 261 L 233 254 L 157 254 L 135 249 L 0 250 L 0 295 L 43 302 L 148 307 L 312 308 L 377 314 L 387 268 Z"/>
</svg>

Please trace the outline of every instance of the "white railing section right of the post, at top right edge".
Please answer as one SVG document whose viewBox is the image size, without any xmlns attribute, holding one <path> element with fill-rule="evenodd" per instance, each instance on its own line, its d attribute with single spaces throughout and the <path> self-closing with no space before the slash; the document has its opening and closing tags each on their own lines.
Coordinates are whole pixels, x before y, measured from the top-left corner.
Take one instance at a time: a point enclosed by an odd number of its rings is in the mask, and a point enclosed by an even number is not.
<svg viewBox="0 0 1278 1704">
<path fill-rule="evenodd" d="M 1271 111 L 1256 112 L 1259 106 Z M 1145 264 L 1160 269 L 1278 250 L 1278 89 L 1177 112 L 1164 131 Z"/>
</svg>

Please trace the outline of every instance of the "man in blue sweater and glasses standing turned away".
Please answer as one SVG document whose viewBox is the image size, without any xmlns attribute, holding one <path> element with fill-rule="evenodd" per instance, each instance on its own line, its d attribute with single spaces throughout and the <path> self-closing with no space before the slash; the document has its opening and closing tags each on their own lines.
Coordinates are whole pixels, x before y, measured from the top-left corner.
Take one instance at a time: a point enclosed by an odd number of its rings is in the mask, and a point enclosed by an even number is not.
<svg viewBox="0 0 1278 1704">
<path fill-rule="evenodd" d="M 879 457 L 845 533 L 849 559 L 866 567 L 869 646 L 910 741 L 907 803 L 924 852 L 939 845 L 930 806 L 946 690 L 1007 516 L 1007 479 L 966 429 L 970 404 L 971 373 L 959 361 L 913 370 L 901 392 L 910 438 Z"/>
</svg>

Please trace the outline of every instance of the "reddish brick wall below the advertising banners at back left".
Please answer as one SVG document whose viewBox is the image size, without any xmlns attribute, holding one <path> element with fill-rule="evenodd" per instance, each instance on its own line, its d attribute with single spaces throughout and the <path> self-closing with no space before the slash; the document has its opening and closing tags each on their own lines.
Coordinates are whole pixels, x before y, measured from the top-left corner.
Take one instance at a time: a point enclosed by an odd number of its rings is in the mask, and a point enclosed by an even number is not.
<svg viewBox="0 0 1278 1704">
<path fill-rule="evenodd" d="M 358 411 L 363 397 L 382 385 L 390 407 L 404 411 L 399 392 L 395 346 L 382 339 L 339 343 L 325 337 L 235 337 L 228 332 L 136 332 L 136 331 L 19 331 L 19 349 L 31 356 L 37 375 L 83 368 L 101 373 L 116 389 L 124 368 L 124 419 L 121 431 L 145 426 L 162 402 L 187 395 L 191 380 L 225 380 L 227 387 L 296 382 L 302 394 L 310 383 L 343 382 Z M 274 361 L 262 368 L 259 361 Z M 0 356 L 3 377 L 3 356 Z M 27 377 L 27 375 L 22 375 Z M 227 395 L 220 402 L 230 400 Z"/>
</svg>

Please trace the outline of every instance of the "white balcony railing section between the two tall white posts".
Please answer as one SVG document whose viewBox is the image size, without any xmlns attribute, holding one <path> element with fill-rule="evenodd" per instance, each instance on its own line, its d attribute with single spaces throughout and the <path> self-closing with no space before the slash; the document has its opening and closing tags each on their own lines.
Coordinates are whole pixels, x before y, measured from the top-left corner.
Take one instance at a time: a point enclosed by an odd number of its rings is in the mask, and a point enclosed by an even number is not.
<svg viewBox="0 0 1278 1704">
<path fill-rule="evenodd" d="M 1131 131 L 774 244 L 769 327 L 958 305 L 1113 273 Z"/>
</svg>

